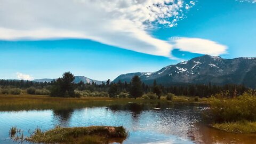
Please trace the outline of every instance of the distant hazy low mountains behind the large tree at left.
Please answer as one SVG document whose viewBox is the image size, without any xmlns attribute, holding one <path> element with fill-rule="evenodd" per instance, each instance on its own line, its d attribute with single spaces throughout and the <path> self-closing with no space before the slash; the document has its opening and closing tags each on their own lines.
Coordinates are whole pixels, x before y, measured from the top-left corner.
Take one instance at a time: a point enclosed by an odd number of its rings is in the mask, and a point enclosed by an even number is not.
<svg viewBox="0 0 256 144">
<path fill-rule="evenodd" d="M 51 82 L 53 81 L 53 78 L 50 79 L 50 78 L 43 78 L 43 79 L 34 79 L 33 82 Z M 102 82 L 105 82 L 105 81 L 97 81 L 97 80 L 94 80 L 94 79 L 90 79 L 90 78 L 87 78 L 85 76 L 75 76 L 75 80 L 74 80 L 74 83 L 79 83 L 83 81 L 84 83 L 96 83 L 96 84 L 101 84 Z"/>
</svg>

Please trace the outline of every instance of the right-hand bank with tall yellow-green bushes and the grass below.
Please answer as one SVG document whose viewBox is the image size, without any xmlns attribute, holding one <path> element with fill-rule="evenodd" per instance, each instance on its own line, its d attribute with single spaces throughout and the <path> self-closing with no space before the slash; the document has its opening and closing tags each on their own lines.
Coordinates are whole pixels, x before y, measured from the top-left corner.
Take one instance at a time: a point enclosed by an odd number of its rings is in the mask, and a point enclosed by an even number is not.
<svg viewBox="0 0 256 144">
<path fill-rule="evenodd" d="M 211 98 L 209 118 L 213 127 L 234 133 L 256 133 L 256 97 L 244 93 L 235 98 Z"/>
</svg>

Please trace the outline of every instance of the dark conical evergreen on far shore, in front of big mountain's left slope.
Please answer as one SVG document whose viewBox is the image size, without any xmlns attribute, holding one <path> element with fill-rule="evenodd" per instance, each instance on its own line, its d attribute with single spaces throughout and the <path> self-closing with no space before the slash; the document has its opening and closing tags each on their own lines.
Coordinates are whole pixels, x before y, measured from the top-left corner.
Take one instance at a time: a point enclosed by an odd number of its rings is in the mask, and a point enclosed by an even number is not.
<svg viewBox="0 0 256 144">
<path fill-rule="evenodd" d="M 143 90 L 139 76 L 132 77 L 130 94 L 135 99 L 142 96 Z"/>
</svg>

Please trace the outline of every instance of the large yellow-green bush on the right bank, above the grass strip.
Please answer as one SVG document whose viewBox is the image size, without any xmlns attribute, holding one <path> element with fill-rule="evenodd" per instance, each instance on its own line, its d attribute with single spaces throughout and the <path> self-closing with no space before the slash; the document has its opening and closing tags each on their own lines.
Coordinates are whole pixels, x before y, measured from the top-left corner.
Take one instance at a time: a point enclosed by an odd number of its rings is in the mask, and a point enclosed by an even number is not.
<svg viewBox="0 0 256 144">
<path fill-rule="evenodd" d="M 211 98 L 210 117 L 215 122 L 256 121 L 256 97 L 244 93 L 233 99 Z"/>
</svg>

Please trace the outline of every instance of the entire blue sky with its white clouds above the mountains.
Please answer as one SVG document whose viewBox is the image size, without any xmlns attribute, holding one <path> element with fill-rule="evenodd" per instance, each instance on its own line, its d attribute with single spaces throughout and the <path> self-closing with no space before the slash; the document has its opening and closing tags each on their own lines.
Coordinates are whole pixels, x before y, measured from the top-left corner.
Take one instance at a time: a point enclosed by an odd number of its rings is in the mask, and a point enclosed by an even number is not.
<svg viewBox="0 0 256 144">
<path fill-rule="evenodd" d="M 0 79 L 113 80 L 203 54 L 256 56 L 254 0 L 0 3 Z"/>
</svg>

